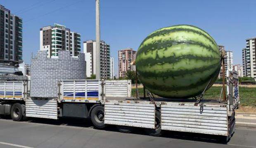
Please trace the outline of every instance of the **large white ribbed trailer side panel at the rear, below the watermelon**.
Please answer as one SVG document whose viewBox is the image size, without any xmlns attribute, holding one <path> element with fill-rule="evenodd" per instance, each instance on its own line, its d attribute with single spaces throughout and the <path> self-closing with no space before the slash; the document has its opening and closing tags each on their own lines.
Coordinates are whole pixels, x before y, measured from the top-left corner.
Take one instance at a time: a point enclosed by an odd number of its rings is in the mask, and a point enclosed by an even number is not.
<svg viewBox="0 0 256 148">
<path fill-rule="evenodd" d="M 161 105 L 161 129 L 228 136 L 227 107 L 167 102 Z"/>
</svg>

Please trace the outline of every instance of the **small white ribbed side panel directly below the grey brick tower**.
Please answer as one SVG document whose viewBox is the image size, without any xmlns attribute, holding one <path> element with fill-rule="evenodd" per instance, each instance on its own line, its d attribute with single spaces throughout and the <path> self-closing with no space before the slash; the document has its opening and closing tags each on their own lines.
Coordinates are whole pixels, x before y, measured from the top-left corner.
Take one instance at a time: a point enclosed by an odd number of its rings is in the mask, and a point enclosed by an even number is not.
<svg viewBox="0 0 256 148">
<path fill-rule="evenodd" d="M 26 116 L 58 119 L 57 99 L 26 99 Z"/>
</svg>

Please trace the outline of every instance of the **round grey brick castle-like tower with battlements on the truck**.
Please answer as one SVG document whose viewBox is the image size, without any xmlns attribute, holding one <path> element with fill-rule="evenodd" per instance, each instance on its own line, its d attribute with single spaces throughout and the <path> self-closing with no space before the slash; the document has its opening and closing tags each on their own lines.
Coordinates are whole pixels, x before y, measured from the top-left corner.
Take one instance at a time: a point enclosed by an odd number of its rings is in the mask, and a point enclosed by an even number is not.
<svg viewBox="0 0 256 148">
<path fill-rule="evenodd" d="M 58 97 L 58 81 L 85 79 L 85 54 L 71 57 L 70 51 L 59 50 L 59 56 L 47 58 L 47 51 L 38 51 L 31 59 L 30 96 Z"/>
</svg>

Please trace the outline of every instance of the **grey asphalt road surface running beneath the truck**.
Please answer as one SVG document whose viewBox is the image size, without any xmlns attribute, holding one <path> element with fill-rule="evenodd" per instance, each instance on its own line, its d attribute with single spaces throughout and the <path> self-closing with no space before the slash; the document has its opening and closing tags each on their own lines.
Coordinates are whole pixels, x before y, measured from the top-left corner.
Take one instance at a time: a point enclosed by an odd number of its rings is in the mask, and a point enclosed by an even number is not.
<svg viewBox="0 0 256 148">
<path fill-rule="evenodd" d="M 109 126 L 92 127 L 89 120 L 0 119 L 0 148 L 256 148 L 256 129 L 236 128 L 228 143 L 220 136 L 165 132 L 147 136 L 141 129 L 124 134 Z"/>
</svg>

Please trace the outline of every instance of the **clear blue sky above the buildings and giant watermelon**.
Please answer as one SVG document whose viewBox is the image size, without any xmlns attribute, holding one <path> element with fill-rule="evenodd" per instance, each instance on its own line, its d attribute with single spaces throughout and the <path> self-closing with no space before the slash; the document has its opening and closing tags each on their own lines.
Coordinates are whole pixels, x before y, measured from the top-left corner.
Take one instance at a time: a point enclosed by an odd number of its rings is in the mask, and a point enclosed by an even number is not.
<svg viewBox="0 0 256 148">
<path fill-rule="evenodd" d="M 190 24 L 206 30 L 242 63 L 245 39 L 256 36 L 256 0 L 100 0 L 101 39 L 110 44 L 114 73 L 118 53 L 137 50 L 142 40 L 162 27 Z M 1 0 L 0 5 L 23 18 L 23 59 L 39 50 L 39 29 L 53 23 L 95 39 L 95 0 Z M 83 50 L 83 48 L 82 48 Z"/>
</svg>

